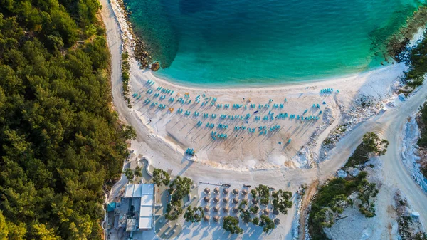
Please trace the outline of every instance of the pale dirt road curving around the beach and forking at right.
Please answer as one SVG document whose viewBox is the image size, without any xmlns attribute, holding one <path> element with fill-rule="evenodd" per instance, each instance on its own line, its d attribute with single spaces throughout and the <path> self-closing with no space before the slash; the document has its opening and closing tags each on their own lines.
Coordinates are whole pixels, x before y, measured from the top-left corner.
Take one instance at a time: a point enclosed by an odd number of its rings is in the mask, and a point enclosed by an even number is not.
<svg viewBox="0 0 427 240">
<path fill-rule="evenodd" d="M 315 179 L 324 181 L 332 177 L 337 169 L 344 165 L 352 151 L 362 141 L 365 132 L 374 131 L 389 140 L 389 150 L 381 157 L 384 160 L 384 182 L 401 189 L 415 211 L 421 214 L 421 222 L 426 226 L 427 195 L 413 182 L 401 162 L 401 147 L 403 126 L 406 118 L 416 113 L 419 106 L 427 97 L 427 85 L 424 84 L 416 94 L 396 108 L 387 110 L 381 115 L 363 122 L 357 128 L 349 132 L 337 143 L 324 162 L 311 169 L 260 169 L 253 171 L 233 171 L 218 169 L 197 162 L 189 162 L 182 159 L 182 154 L 176 152 L 173 147 L 164 145 L 161 139 L 154 137 L 152 131 L 137 117 L 136 113 L 127 108 L 122 98 L 121 80 L 121 51 L 122 38 L 120 26 L 107 0 L 101 0 L 102 19 L 106 26 L 107 43 L 111 54 L 111 84 L 115 110 L 119 113 L 120 120 L 132 125 L 137 131 L 137 140 L 132 145 L 137 145 L 137 151 L 141 148 L 152 149 L 152 155 L 147 155 L 152 160 L 154 167 L 174 169 L 173 174 L 182 174 L 192 177 L 194 182 L 233 182 L 234 184 L 268 184 L 271 187 L 290 189 L 295 192 L 302 183 L 310 183 Z M 307 85 L 307 83 L 305 83 Z M 163 147 L 164 146 L 164 147 Z M 175 159 L 175 160 L 171 160 Z M 179 160 L 179 161 L 176 161 Z M 293 212 L 293 211 L 292 211 Z M 290 224 L 290 223 L 288 223 Z M 290 227 L 289 227 L 290 229 Z"/>
</svg>

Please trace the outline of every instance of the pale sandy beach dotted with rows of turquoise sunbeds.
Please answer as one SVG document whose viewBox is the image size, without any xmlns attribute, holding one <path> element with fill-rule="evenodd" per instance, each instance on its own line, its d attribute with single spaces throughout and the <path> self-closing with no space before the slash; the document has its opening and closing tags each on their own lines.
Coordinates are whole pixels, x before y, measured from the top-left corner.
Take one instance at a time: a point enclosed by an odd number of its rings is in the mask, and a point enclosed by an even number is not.
<svg viewBox="0 0 427 240">
<path fill-rule="evenodd" d="M 380 68 L 376 71 L 361 73 L 348 78 L 339 78 L 334 80 L 325 80 L 322 82 L 302 83 L 300 85 L 284 85 L 281 87 L 265 88 L 246 88 L 246 89 L 210 89 L 210 88 L 186 88 L 180 85 L 174 85 L 157 78 L 152 71 L 142 71 L 138 68 L 135 61 L 132 62 L 131 93 L 142 93 L 139 100 L 132 98 L 132 114 L 137 115 L 141 121 L 142 129 L 149 131 L 150 137 L 156 138 L 160 145 L 153 145 L 152 149 L 157 150 L 166 143 L 175 152 L 184 156 L 186 148 L 190 147 L 196 151 L 194 161 L 203 162 L 223 169 L 270 169 L 274 167 L 309 167 L 312 164 L 313 156 L 301 151 L 307 143 L 317 139 L 310 139 L 312 133 L 317 127 L 324 125 L 324 117 L 319 115 L 320 110 L 325 108 L 332 110 L 332 116 L 339 119 L 341 114 L 338 105 L 348 108 L 352 100 L 357 97 L 359 89 L 363 88 L 364 95 L 374 97 L 384 97 L 391 91 L 391 83 L 402 73 L 404 66 L 394 65 L 386 68 Z M 154 80 L 156 83 L 152 86 L 146 84 L 147 80 Z M 174 94 L 160 93 L 158 87 L 174 90 Z M 320 95 L 322 88 L 334 88 L 334 93 Z M 147 94 L 147 90 L 152 89 L 152 94 Z M 339 93 L 335 89 L 339 90 Z M 154 93 L 165 95 L 164 100 L 159 97 L 154 98 Z M 188 100 L 190 104 L 177 103 L 176 100 L 189 93 Z M 206 95 L 206 99 L 216 98 L 215 105 L 208 104 L 201 106 L 201 103 L 195 103 L 196 96 Z M 174 103 L 169 102 L 169 98 L 175 98 Z M 287 99 L 285 103 L 284 99 Z M 149 104 L 144 104 L 144 100 L 149 99 Z M 270 108 L 258 109 L 259 104 L 265 105 L 269 100 Z M 251 100 L 249 103 L 248 100 Z M 325 102 L 326 104 L 322 104 Z M 158 105 L 151 107 L 151 103 L 166 105 L 164 110 L 160 110 Z M 242 108 L 234 109 L 233 104 L 241 104 Z M 273 104 L 283 104 L 283 109 L 273 108 Z M 217 104 L 229 104 L 230 108 L 216 108 Z M 255 104 L 255 108 L 251 108 Z M 319 104 L 320 109 L 312 108 L 313 104 Z M 245 109 L 246 107 L 246 109 Z M 168 108 L 174 108 L 171 113 Z M 183 113 L 176 113 L 181 108 Z M 319 116 L 320 120 L 263 120 L 268 113 L 288 113 L 288 115 L 305 114 Z M 186 110 L 190 115 L 186 116 Z M 253 114 L 258 111 L 257 114 Z M 199 112 L 199 117 L 194 116 L 194 112 Z M 203 118 L 203 114 L 209 114 L 209 118 Z M 211 118 L 211 114 L 216 114 L 216 118 Z M 221 120 L 220 115 L 241 115 L 243 120 Z M 251 117 L 245 120 L 247 114 Z M 255 120 L 259 116 L 261 120 Z M 270 119 L 270 117 L 269 117 Z M 151 120 L 151 122 L 149 122 Z M 326 120 L 326 119 L 325 119 Z M 197 122 L 201 121 L 200 127 L 196 127 Z M 214 123 L 215 127 L 211 129 L 206 127 L 206 123 Z M 218 128 L 219 124 L 228 125 L 227 130 Z M 245 126 L 255 128 L 255 133 L 249 134 L 247 130 L 234 130 L 235 126 Z M 275 125 L 280 125 L 280 130 L 268 131 L 267 135 L 259 135 L 258 127 L 266 126 L 267 130 Z M 228 135 L 226 140 L 212 140 L 211 132 L 216 131 Z M 287 144 L 289 139 L 290 144 Z M 145 141 L 144 141 L 145 142 Z M 280 142 L 280 143 L 279 143 Z M 321 142 L 317 141 L 317 142 Z M 152 141 L 146 142 L 148 144 Z M 303 156 L 301 156 L 303 155 Z"/>
</svg>

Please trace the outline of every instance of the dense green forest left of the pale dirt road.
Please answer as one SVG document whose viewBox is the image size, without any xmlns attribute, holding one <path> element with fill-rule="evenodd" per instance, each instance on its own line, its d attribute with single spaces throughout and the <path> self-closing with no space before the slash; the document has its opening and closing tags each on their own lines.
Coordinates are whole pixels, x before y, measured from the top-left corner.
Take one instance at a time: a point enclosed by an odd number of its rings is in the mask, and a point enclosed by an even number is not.
<svg viewBox="0 0 427 240">
<path fill-rule="evenodd" d="M 0 239 L 102 239 L 131 127 L 97 0 L 0 0 Z"/>
</svg>

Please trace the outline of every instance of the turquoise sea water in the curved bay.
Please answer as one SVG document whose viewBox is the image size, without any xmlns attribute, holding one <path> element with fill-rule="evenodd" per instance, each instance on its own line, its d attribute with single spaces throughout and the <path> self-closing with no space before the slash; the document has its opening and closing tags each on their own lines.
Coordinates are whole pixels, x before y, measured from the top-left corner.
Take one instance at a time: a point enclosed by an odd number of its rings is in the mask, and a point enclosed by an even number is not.
<svg viewBox="0 0 427 240">
<path fill-rule="evenodd" d="M 199 85 L 265 85 L 347 75 L 384 62 L 383 43 L 413 0 L 125 0 L 162 63 Z"/>
</svg>

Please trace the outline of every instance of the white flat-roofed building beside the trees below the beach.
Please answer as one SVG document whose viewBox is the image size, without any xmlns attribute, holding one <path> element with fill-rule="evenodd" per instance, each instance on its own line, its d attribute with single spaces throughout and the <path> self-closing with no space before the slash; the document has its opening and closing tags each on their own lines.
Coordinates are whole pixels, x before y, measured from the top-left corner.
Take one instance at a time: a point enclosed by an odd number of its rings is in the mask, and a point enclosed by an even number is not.
<svg viewBox="0 0 427 240">
<path fill-rule="evenodd" d="M 139 204 L 139 230 L 151 230 L 153 223 L 154 184 L 129 184 L 126 186 L 125 198 L 132 198 Z M 137 206 L 135 206 L 135 209 Z"/>
</svg>

